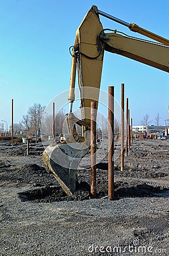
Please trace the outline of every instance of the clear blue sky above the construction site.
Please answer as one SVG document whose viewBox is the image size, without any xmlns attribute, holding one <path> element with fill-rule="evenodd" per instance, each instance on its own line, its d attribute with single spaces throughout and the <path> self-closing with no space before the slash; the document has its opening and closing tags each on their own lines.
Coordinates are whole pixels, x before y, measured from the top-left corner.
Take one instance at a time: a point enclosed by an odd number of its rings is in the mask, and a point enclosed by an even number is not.
<svg viewBox="0 0 169 256">
<path fill-rule="evenodd" d="M 92 5 L 168 38 L 169 0 L 1 0 L 0 121 L 11 124 L 12 98 L 14 122 L 18 123 L 29 106 L 35 102 L 47 106 L 69 88 L 69 46 Z M 104 28 L 139 36 L 112 20 L 100 20 Z M 139 125 L 146 113 L 151 119 L 159 113 L 163 124 L 169 105 L 168 73 L 105 52 L 101 88 L 107 91 L 109 85 L 114 85 L 116 100 L 120 102 L 122 82 L 133 125 Z"/>
</svg>

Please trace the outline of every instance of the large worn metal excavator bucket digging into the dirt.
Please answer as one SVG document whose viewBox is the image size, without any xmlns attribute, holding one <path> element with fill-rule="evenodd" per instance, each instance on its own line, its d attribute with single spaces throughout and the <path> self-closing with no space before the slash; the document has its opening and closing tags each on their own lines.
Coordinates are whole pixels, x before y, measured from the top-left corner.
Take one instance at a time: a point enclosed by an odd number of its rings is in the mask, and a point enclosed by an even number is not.
<svg viewBox="0 0 169 256">
<path fill-rule="evenodd" d="M 69 196 L 76 191 L 77 168 L 87 152 L 88 147 L 85 143 L 56 144 L 54 142 L 43 152 L 45 169 L 58 180 Z"/>
</svg>

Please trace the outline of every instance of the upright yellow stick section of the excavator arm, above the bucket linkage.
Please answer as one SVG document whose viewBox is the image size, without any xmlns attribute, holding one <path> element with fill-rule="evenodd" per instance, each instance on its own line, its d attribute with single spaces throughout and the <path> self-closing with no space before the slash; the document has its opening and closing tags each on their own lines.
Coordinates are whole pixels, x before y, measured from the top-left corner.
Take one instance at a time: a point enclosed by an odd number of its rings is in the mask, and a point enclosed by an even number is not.
<svg viewBox="0 0 169 256">
<path fill-rule="evenodd" d="M 98 56 L 97 35 L 103 30 L 102 23 L 98 15 L 93 10 L 88 11 L 81 25 L 77 30 L 76 45 L 79 43 L 79 86 L 81 92 L 81 110 L 82 118 L 90 123 L 90 102 L 99 100 L 100 80 L 102 76 L 104 44 L 102 44 L 102 53 L 96 59 L 90 57 Z M 83 56 L 85 55 L 89 56 Z M 87 87 L 87 89 L 86 89 Z M 92 90 L 98 88 L 98 90 Z M 90 92 L 90 98 L 88 98 Z M 85 108 L 83 108 L 85 106 Z"/>
</svg>

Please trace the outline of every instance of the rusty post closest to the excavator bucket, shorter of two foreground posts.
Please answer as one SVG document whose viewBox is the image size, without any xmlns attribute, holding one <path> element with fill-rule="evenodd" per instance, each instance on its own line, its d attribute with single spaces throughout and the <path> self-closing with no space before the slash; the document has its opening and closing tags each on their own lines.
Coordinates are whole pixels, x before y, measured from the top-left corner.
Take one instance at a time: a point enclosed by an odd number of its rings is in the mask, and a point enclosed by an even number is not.
<svg viewBox="0 0 169 256">
<path fill-rule="evenodd" d="M 91 101 L 91 195 L 96 198 L 96 101 Z"/>
</svg>

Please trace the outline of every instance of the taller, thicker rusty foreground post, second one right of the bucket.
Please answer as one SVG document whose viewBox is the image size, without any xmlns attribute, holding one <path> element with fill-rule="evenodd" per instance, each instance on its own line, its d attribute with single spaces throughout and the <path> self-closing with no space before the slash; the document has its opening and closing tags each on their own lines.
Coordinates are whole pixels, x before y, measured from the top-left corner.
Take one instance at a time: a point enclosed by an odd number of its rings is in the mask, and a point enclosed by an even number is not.
<svg viewBox="0 0 169 256">
<path fill-rule="evenodd" d="M 108 198 L 114 200 L 114 86 L 108 87 Z"/>
</svg>

